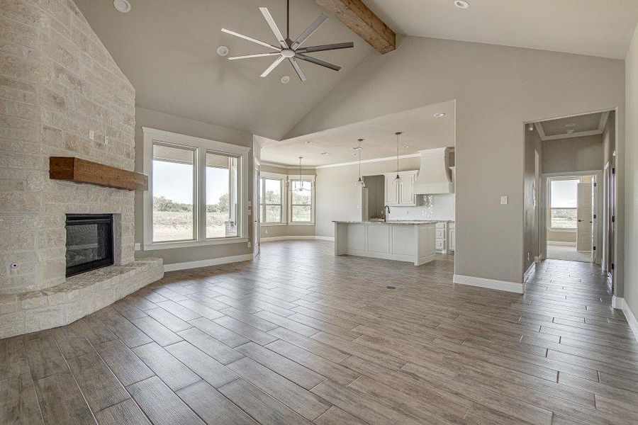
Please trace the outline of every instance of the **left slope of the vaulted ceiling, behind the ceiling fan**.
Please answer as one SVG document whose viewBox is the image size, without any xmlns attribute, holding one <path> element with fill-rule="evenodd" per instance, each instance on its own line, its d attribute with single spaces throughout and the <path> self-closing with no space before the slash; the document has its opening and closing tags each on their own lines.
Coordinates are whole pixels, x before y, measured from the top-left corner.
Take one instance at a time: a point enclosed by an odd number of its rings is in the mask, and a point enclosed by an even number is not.
<svg viewBox="0 0 638 425">
<path fill-rule="evenodd" d="M 286 61 L 262 79 L 259 74 L 274 58 L 229 61 L 216 49 L 226 45 L 232 56 L 266 48 L 220 30 L 225 27 L 276 44 L 259 6 L 268 7 L 285 30 L 284 0 L 130 0 L 129 13 L 116 11 L 112 0 L 75 2 L 135 87 L 138 106 L 276 139 L 372 51 L 329 15 L 306 45 L 354 41 L 354 49 L 313 54 L 340 65 L 340 72 L 301 62 L 308 77 L 301 83 Z M 322 12 L 314 1 L 291 1 L 291 38 Z M 284 75 L 291 77 L 289 84 L 279 81 Z"/>
</svg>

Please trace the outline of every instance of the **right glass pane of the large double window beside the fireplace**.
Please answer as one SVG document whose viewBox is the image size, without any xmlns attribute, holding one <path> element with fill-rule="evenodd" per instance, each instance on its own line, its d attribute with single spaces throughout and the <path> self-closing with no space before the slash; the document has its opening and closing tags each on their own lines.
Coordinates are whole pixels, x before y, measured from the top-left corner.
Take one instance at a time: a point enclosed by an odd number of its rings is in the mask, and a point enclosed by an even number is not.
<svg viewBox="0 0 638 425">
<path fill-rule="evenodd" d="M 239 158 L 206 152 L 206 237 L 236 237 Z"/>
</svg>

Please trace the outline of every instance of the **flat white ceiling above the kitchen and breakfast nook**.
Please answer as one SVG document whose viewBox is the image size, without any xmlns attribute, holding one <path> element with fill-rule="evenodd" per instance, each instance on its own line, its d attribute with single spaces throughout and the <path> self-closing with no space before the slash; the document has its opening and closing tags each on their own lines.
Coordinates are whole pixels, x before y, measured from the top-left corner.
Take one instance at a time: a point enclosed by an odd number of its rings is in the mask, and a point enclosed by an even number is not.
<svg viewBox="0 0 638 425">
<path fill-rule="evenodd" d="M 435 113 L 445 113 L 435 118 Z M 288 140 L 262 138 L 262 162 L 295 165 L 303 157 L 303 165 L 320 166 L 358 161 L 359 138 L 362 159 L 396 156 L 395 132 L 401 131 L 399 154 L 416 154 L 421 149 L 454 147 L 454 101 L 410 109 L 379 118 L 332 128 Z M 312 142 L 307 143 L 307 142 Z M 408 147 L 405 147 L 408 146 Z M 322 152 L 328 152 L 322 155 Z"/>
</svg>

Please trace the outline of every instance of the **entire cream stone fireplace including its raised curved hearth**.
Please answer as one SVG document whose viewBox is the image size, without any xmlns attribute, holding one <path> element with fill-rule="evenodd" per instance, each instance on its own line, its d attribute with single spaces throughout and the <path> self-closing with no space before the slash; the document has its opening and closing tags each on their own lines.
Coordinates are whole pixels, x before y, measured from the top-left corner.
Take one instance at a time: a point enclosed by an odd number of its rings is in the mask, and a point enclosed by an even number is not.
<svg viewBox="0 0 638 425">
<path fill-rule="evenodd" d="M 72 0 L 4 1 L 0 14 L 10 118 L 0 143 L 4 338 L 73 322 L 161 278 L 163 267 L 135 259 L 133 191 L 49 179 L 50 157 L 133 171 L 135 89 Z M 69 274 L 78 252 L 67 251 L 67 218 L 80 215 L 111 216 L 113 264 Z"/>
</svg>

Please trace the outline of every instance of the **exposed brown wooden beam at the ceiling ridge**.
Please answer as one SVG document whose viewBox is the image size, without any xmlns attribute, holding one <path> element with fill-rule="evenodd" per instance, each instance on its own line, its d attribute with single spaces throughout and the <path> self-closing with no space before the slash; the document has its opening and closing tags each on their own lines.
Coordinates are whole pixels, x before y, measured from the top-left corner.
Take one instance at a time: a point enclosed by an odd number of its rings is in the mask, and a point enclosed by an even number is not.
<svg viewBox="0 0 638 425">
<path fill-rule="evenodd" d="M 315 0 L 319 6 L 337 16 L 382 55 L 396 50 L 396 34 L 362 0 Z"/>
</svg>

